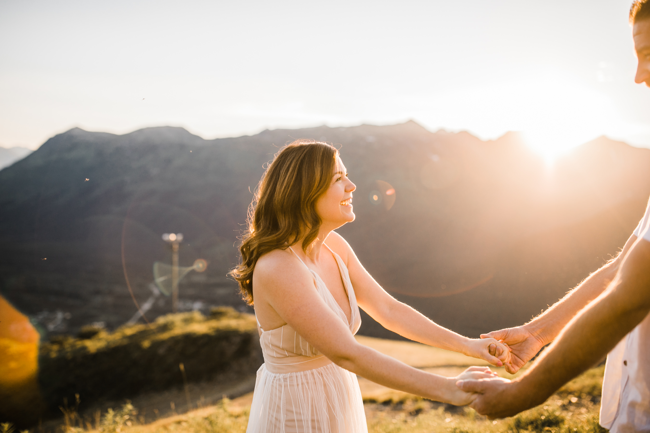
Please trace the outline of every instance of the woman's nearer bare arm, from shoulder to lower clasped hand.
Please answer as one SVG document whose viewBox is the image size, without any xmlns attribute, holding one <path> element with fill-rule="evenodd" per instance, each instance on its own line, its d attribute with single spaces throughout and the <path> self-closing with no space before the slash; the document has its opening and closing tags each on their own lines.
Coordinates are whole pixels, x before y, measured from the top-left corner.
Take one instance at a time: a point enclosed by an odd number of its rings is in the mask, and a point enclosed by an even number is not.
<svg viewBox="0 0 650 433">
<path fill-rule="evenodd" d="M 457 378 L 426 373 L 357 343 L 350 329 L 324 303 L 313 276 L 284 251 L 260 258 L 253 274 L 255 308 L 272 308 L 302 338 L 335 364 L 372 382 L 428 399 L 468 404 L 474 396 L 458 390 Z M 465 374 L 492 377 L 484 367 Z M 468 377 L 468 378 L 469 378 Z"/>
</svg>

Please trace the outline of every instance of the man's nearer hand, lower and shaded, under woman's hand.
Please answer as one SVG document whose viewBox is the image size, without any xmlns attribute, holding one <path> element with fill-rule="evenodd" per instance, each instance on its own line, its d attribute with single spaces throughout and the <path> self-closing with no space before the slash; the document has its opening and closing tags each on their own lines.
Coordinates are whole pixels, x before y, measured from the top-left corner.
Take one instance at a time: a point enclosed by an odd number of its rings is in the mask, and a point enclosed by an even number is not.
<svg viewBox="0 0 650 433">
<path fill-rule="evenodd" d="M 458 380 L 456 386 L 465 392 L 475 393 L 476 397 L 469 407 L 481 415 L 487 415 L 489 419 L 510 417 L 535 405 L 526 395 L 517 393 L 517 382 L 501 377 Z"/>
</svg>

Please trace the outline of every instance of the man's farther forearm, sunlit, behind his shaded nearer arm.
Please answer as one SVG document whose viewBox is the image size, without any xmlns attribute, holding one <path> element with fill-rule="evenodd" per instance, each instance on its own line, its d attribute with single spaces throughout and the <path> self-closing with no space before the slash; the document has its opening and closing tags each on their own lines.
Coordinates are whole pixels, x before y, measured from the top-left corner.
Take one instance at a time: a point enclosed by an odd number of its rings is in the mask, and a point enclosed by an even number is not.
<svg viewBox="0 0 650 433">
<path fill-rule="evenodd" d="M 630 236 L 623 250 L 614 260 L 611 260 L 608 264 L 592 273 L 588 278 L 578 284 L 575 289 L 569 291 L 564 298 L 552 304 L 551 308 L 526 323 L 524 327 L 531 334 L 538 336 L 544 344 L 549 344 L 555 340 L 562 328 L 582 308 L 603 293 L 612 280 L 614 280 L 621 261 L 625 258 L 634 241 L 636 241 L 636 236 Z"/>
</svg>

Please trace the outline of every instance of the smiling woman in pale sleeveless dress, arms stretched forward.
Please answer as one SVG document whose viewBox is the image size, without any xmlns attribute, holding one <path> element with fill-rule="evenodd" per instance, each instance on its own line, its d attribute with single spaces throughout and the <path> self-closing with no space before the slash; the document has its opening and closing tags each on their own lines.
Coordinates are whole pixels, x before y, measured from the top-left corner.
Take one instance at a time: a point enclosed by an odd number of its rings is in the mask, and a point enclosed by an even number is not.
<svg viewBox="0 0 650 433">
<path fill-rule="evenodd" d="M 411 340 L 482 358 L 495 365 L 510 352 L 494 339 L 471 340 L 439 327 L 375 282 L 333 230 L 354 221 L 355 186 L 338 151 L 298 140 L 263 175 L 250 210 L 242 260 L 231 275 L 253 304 L 265 363 L 248 421 L 252 432 L 367 432 L 356 375 L 456 405 L 473 395 L 460 378 L 493 377 L 470 367 L 442 377 L 386 356 L 354 339 L 363 308 Z M 358 305 L 358 306 L 357 306 Z M 499 358 L 493 353 L 495 345 Z"/>
</svg>

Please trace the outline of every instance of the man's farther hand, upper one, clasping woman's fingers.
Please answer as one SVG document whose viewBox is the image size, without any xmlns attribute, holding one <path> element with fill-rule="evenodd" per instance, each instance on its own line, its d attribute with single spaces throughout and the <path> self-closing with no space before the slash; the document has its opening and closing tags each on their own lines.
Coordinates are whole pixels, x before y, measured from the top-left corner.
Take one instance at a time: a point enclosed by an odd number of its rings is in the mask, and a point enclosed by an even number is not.
<svg viewBox="0 0 650 433">
<path fill-rule="evenodd" d="M 505 367 L 506 371 L 511 375 L 517 373 L 544 346 L 539 337 L 531 334 L 523 326 L 481 334 L 481 338 L 495 338 L 510 347 L 510 362 L 505 364 Z M 497 345 L 490 345 L 489 353 L 491 355 L 495 356 L 498 351 L 499 347 Z"/>
</svg>

